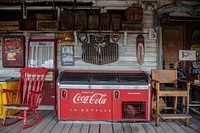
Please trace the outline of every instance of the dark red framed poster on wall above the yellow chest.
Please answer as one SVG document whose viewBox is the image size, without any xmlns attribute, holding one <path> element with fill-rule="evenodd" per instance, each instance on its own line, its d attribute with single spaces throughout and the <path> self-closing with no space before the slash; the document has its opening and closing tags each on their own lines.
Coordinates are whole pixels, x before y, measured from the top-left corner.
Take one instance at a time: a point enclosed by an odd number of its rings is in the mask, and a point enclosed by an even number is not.
<svg viewBox="0 0 200 133">
<path fill-rule="evenodd" d="M 24 67 L 24 36 L 3 36 L 3 67 Z"/>
</svg>

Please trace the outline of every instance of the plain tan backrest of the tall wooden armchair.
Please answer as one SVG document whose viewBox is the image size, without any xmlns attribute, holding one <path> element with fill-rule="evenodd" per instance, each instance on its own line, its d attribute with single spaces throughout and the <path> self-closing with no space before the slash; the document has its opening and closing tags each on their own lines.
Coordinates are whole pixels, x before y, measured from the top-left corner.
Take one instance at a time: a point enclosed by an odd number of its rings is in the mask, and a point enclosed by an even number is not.
<svg viewBox="0 0 200 133">
<path fill-rule="evenodd" d="M 158 80 L 160 83 L 174 83 L 177 80 L 177 70 L 151 70 L 153 80 Z"/>
</svg>

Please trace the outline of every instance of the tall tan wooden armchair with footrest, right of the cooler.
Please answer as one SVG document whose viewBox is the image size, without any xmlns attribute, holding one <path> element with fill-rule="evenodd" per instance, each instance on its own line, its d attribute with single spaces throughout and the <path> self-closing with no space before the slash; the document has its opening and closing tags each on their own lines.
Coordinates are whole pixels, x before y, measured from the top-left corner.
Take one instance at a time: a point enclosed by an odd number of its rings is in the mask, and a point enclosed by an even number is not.
<svg viewBox="0 0 200 133">
<path fill-rule="evenodd" d="M 151 76 L 152 87 L 156 96 L 156 126 L 158 126 L 160 119 L 185 119 L 188 126 L 191 117 L 189 115 L 190 82 L 177 79 L 177 70 L 152 70 Z M 173 97 L 174 106 L 160 109 L 160 98 L 163 97 Z M 183 111 L 177 109 L 178 97 L 182 97 L 183 101 L 185 100 Z"/>
</svg>

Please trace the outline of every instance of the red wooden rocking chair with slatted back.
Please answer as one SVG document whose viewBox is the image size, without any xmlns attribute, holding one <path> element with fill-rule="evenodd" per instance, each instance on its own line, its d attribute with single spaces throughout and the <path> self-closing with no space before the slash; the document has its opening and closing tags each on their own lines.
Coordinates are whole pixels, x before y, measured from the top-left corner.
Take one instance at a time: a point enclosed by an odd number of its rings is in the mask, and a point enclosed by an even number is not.
<svg viewBox="0 0 200 133">
<path fill-rule="evenodd" d="M 48 71 L 45 68 L 21 68 L 17 90 L 2 89 L 2 92 L 6 93 L 7 100 L 7 104 L 3 105 L 3 108 L 6 110 L 3 126 L 9 126 L 23 120 L 23 128 L 25 129 L 34 126 L 42 120 L 44 115 L 39 117 L 37 109 L 44 94 L 42 88 L 47 73 Z M 14 101 L 9 100 L 11 95 L 15 97 Z M 10 110 L 19 110 L 19 113 L 9 116 L 8 112 Z M 6 123 L 7 118 L 14 118 L 15 120 Z M 36 118 L 36 120 L 27 125 L 27 120 L 34 118 Z"/>
</svg>

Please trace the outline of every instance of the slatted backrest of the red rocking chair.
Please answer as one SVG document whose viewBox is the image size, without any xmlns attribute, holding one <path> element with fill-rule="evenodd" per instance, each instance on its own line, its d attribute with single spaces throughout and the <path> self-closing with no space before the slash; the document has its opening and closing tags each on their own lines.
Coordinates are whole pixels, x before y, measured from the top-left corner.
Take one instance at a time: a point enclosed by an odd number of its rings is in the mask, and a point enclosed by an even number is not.
<svg viewBox="0 0 200 133">
<path fill-rule="evenodd" d="M 22 104 L 39 104 L 47 73 L 45 68 L 22 68 L 20 70 L 18 89 L 22 89 Z"/>
</svg>

